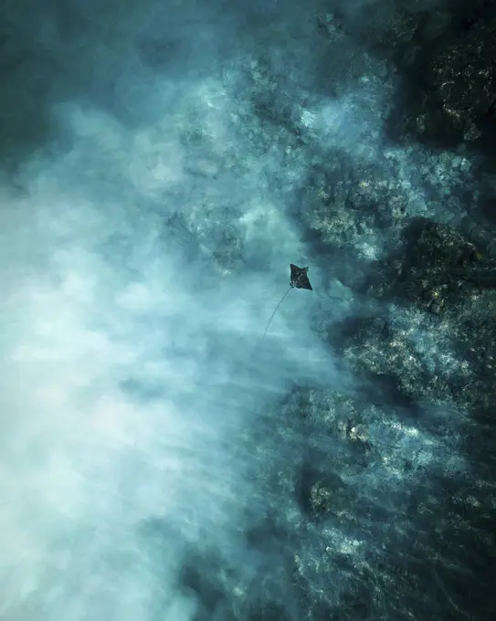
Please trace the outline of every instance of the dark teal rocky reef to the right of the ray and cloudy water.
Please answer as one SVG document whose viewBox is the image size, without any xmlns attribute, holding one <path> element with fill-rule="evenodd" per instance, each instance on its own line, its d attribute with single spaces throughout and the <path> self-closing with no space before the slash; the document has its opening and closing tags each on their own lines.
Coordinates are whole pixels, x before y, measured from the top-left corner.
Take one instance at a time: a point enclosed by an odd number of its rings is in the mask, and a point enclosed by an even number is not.
<svg viewBox="0 0 496 621">
<path fill-rule="evenodd" d="M 270 419 L 270 442 L 290 458 L 276 459 L 265 489 L 294 504 L 249 534 L 273 551 L 266 577 L 226 577 L 216 593 L 237 593 L 232 618 L 496 616 L 496 5 L 385 10 L 375 19 L 371 4 L 356 26 L 343 5 L 322 3 L 316 18 L 322 68 L 332 49 L 345 57 L 322 89 L 353 113 L 358 88 L 362 106 L 377 106 L 389 136 L 380 153 L 366 119 L 353 153 L 338 117 L 332 146 L 317 142 L 310 112 L 280 106 L 270 59 L 248 68 L 264 137 L 285 149 L 287 171 L 306 163 L 292 209 L 329 286 L 341 283 L 333 310 L 346 291 L 361 300 L 354 319 L 319 316 L 314 329 L 363 389 L 295 386 L 275 429 Z M 377 92 L 392 84 L 400 95 L 381 109 Z M 253 592 L 260 605 L 244 605 Z"/>
</svg>

